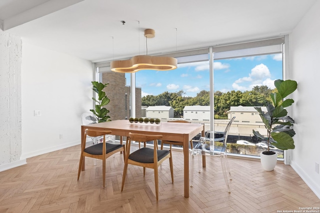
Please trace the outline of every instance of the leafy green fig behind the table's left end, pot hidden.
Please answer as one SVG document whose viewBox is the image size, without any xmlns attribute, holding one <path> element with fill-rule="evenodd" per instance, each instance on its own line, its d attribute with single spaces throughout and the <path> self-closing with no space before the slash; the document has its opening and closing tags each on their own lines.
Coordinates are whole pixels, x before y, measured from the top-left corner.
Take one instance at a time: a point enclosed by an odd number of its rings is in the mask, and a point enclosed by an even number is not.
<svg viewBox="0 0 320 213">
<path fill-rule="evenodd" d="M 110 116 L 107 115 L 109 110 L 103 107 L 110 102 L 110 99 L 106 97 L 103 91 L 108 83 L 103 84 L 97 81 L 91 81 L 91 83 L 93 85 L 93 91 L 98 95 L 98 99 L 92 97 L 92 100 L 95 101 L 95 109 L 90 109 L 90 111 L 95 115 L 98 123 L 111 121 Z"/>
</svg>

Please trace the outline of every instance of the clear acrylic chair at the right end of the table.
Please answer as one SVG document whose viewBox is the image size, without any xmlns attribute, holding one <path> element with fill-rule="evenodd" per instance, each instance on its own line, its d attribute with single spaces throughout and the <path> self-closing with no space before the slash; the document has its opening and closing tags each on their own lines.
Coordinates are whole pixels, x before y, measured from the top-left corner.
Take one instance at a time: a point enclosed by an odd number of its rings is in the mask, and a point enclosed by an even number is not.
<svg viewBox="0 0 320 213">
<path fill-rule="evenodd" d="M 226 155 L 226 140 L 228 137 L 228 132 L 231 126 L 232 121 L 235 117 L 231 118 L 228 122 L 227 126 L 225 127 L 224 132 L 212 132 L 207 131 L 205 137 L 201 137 L 199 142 L 194 146 L 191 150 L 191 161 L 190 161 L 190 186 L 193 187 L 193 167 L 194 167 L 194 156 L 219 156 L 221 161 L 221 168 L 223 173 L 223 178 L 228 190 L 228 193 L 231 193 L 228 178 L 232 180 L 229 165 L 227 162 L 227 155 Z M 220 136 L 215 138 L 214 135 Z M 214 142 L 222 142 L 222 146 L 214 145 Z M 200 173 L 200 160 L 198 161 L 198 169 Z M 227 177 L 229 176 L 229 177 Z"/>
</svg>

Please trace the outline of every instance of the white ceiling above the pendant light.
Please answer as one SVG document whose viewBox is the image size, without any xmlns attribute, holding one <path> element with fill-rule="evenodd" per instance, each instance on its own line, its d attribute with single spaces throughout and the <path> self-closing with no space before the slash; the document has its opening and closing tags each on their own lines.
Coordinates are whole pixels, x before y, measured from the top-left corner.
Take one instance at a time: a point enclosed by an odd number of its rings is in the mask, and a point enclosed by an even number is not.
<svg viewBox="0 0 320 213">
<path fill-rule="evenodd" d="M 287 34 L 315 1 L 0 0 L 0 26 L 22 41 L 99 62 L 146 54 L 146 46 L 152 55 Z M 147 42 L 146 28 L 155 30 Z"/>
</svg>

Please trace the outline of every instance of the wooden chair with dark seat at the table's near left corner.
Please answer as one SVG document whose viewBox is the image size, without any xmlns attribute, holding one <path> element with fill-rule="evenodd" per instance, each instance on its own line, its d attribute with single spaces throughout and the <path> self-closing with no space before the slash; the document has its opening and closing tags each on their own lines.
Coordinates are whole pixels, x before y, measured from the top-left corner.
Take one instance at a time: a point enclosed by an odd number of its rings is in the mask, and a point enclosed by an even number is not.
<svg viewBox="0 0 320 213">
<path fill-rule="evenodd" d="M 124 147 L 124 145 L 105 143 L 105 135 L 109 135 L 110 133 L 111 133 L 111 131 L 97 131 L 97 130 L 88 130 L 88 129 L 86 129 L 84 131 L 77 180 L 79 180 L 79 177 L 80 177 L 82 163 L 83 163 L 83 157 L 90 157 L 90 158 L 102 160 L 103 188 L 105 187 L 105 159 L 107 159 L 108 157 L 110 157 L 111 155 L 113 155 L 116 152 L 123 151 L 123 159 L 125 160 L 125 147 Z M 86 138 L 87 138 L 86 136 L 90 136 L 90 137 L 103 136 L 103 139 L 102 139 L 103 143 L 97 143 L 97 144 L 94 144 L 92 146 L 85 148 L 85 143 L 86 143 Z"/>
</svg>

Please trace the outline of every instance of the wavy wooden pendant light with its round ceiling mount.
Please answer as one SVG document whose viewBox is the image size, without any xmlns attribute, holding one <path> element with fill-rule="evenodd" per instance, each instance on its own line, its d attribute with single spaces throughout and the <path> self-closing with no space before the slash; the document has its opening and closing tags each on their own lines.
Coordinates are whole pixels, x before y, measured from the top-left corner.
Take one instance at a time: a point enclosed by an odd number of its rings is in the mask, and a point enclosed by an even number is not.
<svg viewBox="0 0 320 213">
<path fill-rule="evenodd" d="M 154 37 L 153 29 L 145 29 L 144 36 Z M 137 72 L 142 69 L 172 70 L 177 67 L 177 60 L 173 57 L 136 55 L 127 60 L 111 61 L 111 70 L 114 72 Z"/>
</svg>

